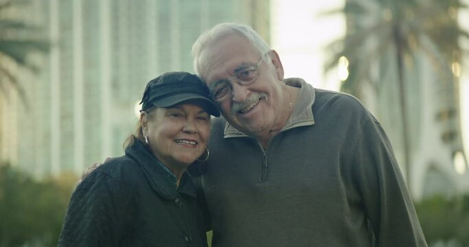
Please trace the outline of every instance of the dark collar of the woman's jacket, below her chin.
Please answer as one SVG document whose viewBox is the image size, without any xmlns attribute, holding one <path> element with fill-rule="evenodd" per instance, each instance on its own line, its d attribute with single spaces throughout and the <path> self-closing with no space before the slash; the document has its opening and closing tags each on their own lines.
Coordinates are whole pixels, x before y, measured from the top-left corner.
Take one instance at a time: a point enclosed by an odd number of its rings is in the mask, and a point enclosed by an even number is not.
<svg viewBox="0 0 469 247">
<path fill-rule="evenodd" d="M 126 155 L 137 162 L 146 180 L 159 196 L 166 200 L 174 200 L 179 193 L 185 193 L 187 196 L 196 198 L 196 188 L 190 175 L 184 172 L 179 188 L 176 188 L 176 184 L 168 178 L 168 171 L 163 169 L 163 164 L 137 139 L 134 138 L 134 143 L 126 148 Z"/>
</svg>

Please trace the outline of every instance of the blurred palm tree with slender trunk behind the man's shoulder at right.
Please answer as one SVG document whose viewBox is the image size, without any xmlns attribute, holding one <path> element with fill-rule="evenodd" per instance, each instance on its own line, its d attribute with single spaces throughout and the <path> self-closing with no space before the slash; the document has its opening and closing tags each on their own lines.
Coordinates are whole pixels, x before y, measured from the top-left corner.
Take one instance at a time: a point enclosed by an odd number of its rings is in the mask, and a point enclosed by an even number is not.
<svg viewBox="0 0 469 247">
<path fill-rule="evenodd" d="M 459 0 L 347 0 L 343 9 L 328 12 L 343 13 L 347 19 L 347 34 L 328 46 L 332 55 L 325 64 L 325 71 L 329 71 L 341 57 L 350 62 L 350 76 L 342 91 L 361 97 L 365 84 L 379 89 L 380 82 L 370 76 L 374 64 L 396 63 L 407 181 L 410 136 L 404 73 L 417 54 L 425 54 L 441 73 L 448 71 L 452 62 L 459 62 L 462 51 L 458 38 L 469 38 L 457 24 L 460 8 L 466 6 Z M 389 56 L 390 51 L 394 56 Z"/>
</svg>

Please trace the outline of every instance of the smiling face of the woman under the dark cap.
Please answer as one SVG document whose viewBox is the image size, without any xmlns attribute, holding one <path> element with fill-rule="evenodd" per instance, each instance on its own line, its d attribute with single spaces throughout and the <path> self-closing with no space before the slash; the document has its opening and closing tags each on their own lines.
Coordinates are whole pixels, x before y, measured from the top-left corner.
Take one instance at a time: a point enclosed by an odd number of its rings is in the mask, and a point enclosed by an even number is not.
<svg viewBox="0 0 469 247">
<path fill-rule="evenodd" d="M 153 154 L 170 167 L 187 167 L 202 156 L 209 140 L 210 115 L 197 104 L 157 108 L 141 118 Z"/>
</svg>

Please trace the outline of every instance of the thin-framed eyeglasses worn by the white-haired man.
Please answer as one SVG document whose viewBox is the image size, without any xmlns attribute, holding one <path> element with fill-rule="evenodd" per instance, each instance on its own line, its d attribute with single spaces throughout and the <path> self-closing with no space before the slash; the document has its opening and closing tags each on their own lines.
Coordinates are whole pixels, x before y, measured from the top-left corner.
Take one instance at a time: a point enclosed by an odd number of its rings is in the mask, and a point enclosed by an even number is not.
<svg viewBox="0 0 469 247">
<path fill-rule="evenodd" d="M 231 78 L 212 83 L 210 86 L 210 97 L 218 102 L 224 100 L 232 91 L 230 82 L 233 79 L 236 79 L 236 81 L 242 85 L 253 83 L 259 77 L 259 66 L 262 60 L 264 60 L 264 58 L 260 59 L 258 65 L 242 66 L 235 69 L 235 73 Z"/>
</svg>

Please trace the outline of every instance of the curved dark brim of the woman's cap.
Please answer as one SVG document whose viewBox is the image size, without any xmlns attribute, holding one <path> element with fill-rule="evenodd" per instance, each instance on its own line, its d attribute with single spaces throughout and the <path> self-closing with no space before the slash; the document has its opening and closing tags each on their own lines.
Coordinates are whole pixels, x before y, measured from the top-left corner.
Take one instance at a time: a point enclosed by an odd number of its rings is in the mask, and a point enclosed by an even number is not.
<svg viewBox="0 0 469 247">
<path fill-rule="evenodd" d="M 195 93 L 179 93 L 171 95 L 163 99 L 159 99 L 152 104 L 157 107 L 170 107 L 175 104 L 181 104 L 187 100 L 197 100 L 201 103 L 201 106 L 207 111 L 207 113 L 215 117 L 220 117 L 220 110 L 218 110 L 215 102 Z"/>
</svg>

